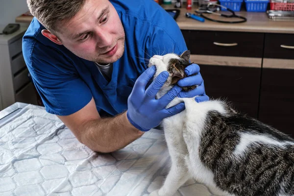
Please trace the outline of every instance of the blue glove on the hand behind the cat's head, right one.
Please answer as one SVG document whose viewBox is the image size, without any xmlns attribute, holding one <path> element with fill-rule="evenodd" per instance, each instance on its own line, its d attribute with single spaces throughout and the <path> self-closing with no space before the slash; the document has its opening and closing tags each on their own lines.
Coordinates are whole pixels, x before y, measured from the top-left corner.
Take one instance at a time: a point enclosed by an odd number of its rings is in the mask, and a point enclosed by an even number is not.
<svg viewBox="0 0 294 196">
<path fill-rule="evenodd" d="M 195 98 L 197 102 L 209 100 L 209 97 L 205 94 L 204 82 L 199 71 L 200 71 L 200 67 L 197 64 L 191 64 L 185 68 L 185 73 L 186 75 L 188 75 L 188 77 L 180 79 L 178 81 L 178 85 L 181 87 L 193 86 L 193 85 L 198 85 L 198 86 L 194 90 L 191 90 L 188 92 L 181 92 L 178 95 L 179 98 L 193 98 L 195 96 L 199 96 Z M 193 75 L 193 74 L 196 74 L 196 75 Z M 192 75 L 192 76 L 189 76 L 189 75 Z"/>
</svg>

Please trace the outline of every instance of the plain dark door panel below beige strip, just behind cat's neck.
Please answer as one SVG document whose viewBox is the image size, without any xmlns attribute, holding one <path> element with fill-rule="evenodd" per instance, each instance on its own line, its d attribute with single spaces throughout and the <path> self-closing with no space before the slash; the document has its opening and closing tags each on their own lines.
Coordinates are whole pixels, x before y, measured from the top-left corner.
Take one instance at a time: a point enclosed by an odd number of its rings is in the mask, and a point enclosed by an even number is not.
<svg viewBox="0 0 294 196">
<path fill-rule="evenodd" d="M 261 69 L 237 66 L 199 65 L 205 92 L 210 98 L 230 101 L 234 108 L 258 117 Z"/>
</svg>

